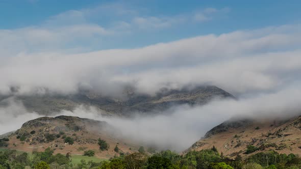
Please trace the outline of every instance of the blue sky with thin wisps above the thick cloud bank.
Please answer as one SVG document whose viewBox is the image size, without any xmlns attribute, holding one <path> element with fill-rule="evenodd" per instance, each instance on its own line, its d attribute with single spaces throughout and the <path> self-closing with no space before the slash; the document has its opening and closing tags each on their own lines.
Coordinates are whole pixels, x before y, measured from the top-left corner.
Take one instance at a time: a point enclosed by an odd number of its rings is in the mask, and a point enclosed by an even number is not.
<svg viewBox="0 0 301 169">
<path fill-rule="evenodd" d="M 97 25 L 108 34 L 69 41 L 63 48 L 136 48 L 199 35 L 298 24 L 300 5 L 300 1 L 4 0 L 0 1 L 0 30 Z"/>
</svg>

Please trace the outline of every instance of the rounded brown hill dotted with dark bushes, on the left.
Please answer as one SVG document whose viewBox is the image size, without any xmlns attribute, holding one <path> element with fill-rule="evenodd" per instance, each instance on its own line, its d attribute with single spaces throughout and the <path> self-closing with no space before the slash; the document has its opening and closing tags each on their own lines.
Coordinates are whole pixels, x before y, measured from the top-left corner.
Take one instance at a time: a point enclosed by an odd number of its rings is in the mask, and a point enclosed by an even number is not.
<svg viewBox="0 0 301 169">
<path fill-rule="evenodd" d="M 83 154 L 85 150 L 93 150 L 96 157 L 107 159 L 119 153 L 127 154 L 138 150 L 138 145 L 117 139 L 109 130 L 113 128 L 103 121 L 69 116 L 42 117 L 24 123 L 9 135 L 6 143 L 8 149 L 26 152 L 44 151 L 48 147 L 54 149 L 55 153 L 62 154 Z M 65 143 L 67 137 L 73 140 L 72 144 Z M 99 150 L 98 138 L 107 142 L 110 146 L 108 151 Z M 114 151 L 116 145 L 119 153 Z"/>
</svg>

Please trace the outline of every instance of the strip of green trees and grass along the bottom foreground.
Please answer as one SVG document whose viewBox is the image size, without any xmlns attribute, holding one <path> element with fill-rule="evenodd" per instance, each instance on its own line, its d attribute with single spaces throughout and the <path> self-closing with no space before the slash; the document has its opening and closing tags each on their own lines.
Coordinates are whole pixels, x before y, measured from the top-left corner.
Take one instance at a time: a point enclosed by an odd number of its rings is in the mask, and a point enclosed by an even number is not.
<svg viewBox="0 0 301 169">
<path fill-rule="evenodd" d="M 92 150 L 82 155 L 53 154 L 47 148 L 44 152 L 25 153 L 16 150 L 0 150 L 0 168 L 69 168 L 69 169 L 113 169 L 113 168 L 170 168 L 170 169 L 295 169 L 301 167 L 301 158 L 294 154 L 279 154 L 275 151 L 260 152 L 242 159 L 230 159 L 219 154 L 214 148 L 189 151 L 179 155 L 170 150 L 153 155 L 136 152 L 120 154 L 110 160 L 89 156 Z"/>
</svg>

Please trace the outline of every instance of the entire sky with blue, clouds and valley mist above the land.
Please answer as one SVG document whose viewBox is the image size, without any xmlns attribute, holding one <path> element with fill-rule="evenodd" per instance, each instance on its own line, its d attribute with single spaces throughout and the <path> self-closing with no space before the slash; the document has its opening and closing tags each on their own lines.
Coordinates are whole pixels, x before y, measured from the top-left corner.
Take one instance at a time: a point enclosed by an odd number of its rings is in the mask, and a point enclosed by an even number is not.
<svg viewBox="0 0 301 169">
<path fill-rule="evenodd" d="M 118 98 L 128 86 L 156 95 L 200 85 L 233 94 L 237 100 L 133 121 L 105 119 L 80 105 L 56 112 L 106 120 L 142 142 L 181 151 L 235 116 L 300 114 L 299 7 L 300 1 L 0 1 L 0 95 L 84 89 Z M 40 117 L 7 102 L 0 133 Z"/>
</svg>

